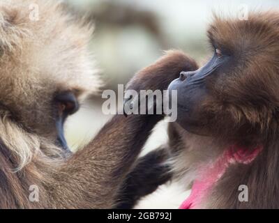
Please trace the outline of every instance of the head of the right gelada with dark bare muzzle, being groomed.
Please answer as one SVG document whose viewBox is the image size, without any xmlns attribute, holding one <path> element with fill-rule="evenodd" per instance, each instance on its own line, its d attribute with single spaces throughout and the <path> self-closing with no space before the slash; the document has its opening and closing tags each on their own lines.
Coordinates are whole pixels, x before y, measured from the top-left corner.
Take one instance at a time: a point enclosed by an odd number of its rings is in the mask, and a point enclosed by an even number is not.
<svg viewBox="0 0 279 223">
<path fill-rule="evenodd" d="M 247 21 L 216 17 L 208 31 L 211 60 L 169 86 L 178 91 L 177 122 L 199 134 L 268 128 L 278 107 L 278 29 L 278 13 L 251 14 Z"/>
</svg>

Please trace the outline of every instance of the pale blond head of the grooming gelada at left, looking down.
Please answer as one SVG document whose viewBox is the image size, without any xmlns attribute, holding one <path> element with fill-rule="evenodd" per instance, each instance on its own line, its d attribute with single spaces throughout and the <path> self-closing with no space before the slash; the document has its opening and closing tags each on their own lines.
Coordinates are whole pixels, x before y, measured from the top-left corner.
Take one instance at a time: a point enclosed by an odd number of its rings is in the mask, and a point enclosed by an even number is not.
<svg viewBox="0 0 279 223">
<path fill-rule="evenodd" d="M 66 147 L 63 123 L 96 91 L 88 27 L 54 1 L 0 3 L 0 109 L 29 132 Z M 30 18 L 30 4 L 38 20 Z"/>
</svg>

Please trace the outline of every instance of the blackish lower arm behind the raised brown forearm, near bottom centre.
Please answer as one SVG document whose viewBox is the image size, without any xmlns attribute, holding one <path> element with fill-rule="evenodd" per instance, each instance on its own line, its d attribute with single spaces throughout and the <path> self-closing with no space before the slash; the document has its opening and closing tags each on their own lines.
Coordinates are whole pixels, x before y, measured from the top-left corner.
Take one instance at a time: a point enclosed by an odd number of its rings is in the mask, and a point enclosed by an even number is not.
<svg viewBox="0 0 279 223">
<path fill-rule="evenodd" d="M 116 208 L 133 208 L 142 197 L 155 192 L 160 185 L 171 180 L 171 168 L 166 162 L 169 157 L 167 146 L 161 146 L 140 157 L 123 183 Z"/>
</svg>

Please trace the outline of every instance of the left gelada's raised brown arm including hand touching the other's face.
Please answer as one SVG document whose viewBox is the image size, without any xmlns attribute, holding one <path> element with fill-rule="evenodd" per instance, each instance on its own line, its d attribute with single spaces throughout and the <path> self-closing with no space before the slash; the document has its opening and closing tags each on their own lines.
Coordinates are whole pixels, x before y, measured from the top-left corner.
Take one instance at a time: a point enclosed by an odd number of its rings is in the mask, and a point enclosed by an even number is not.
<svg viewBox="0 0 279 223">
<path fill-rule="evenodd" d="M 195 61 L 182 52 L 168 52 L 135 75 L 127 88 L 164 90 L 182 70 L 196 68 Z M 55 193 L 56 207 L 115 207 L 116 196 L 131 165 L 161 119 L 163 115 L 114 116 L 84 150 L 73 155 L 54 174 L 56 179 L 49 191 Z"/>
</svg>

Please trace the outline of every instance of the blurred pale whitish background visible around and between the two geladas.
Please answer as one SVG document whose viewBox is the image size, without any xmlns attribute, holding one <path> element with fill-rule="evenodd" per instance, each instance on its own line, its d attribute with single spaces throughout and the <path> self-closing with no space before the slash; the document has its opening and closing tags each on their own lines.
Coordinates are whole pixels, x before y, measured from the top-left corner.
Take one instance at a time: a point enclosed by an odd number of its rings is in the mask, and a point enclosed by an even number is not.
<svg viewBox="0 0 279 223">
<path fill-rule="evenodd" d="M 202 63 L 211 54 L 206 27 L 212 11 L 237 16 L 243 8 L 279 7 L 278 0 L 67 0 L 66 3 L 94 22 L 91 50 L 105 80 L 105 89 L 113 90 L 117 84 L 126 84 L 135 72 L 153 63 L 167 49 L 182 49 Z M 100 96 L 91 98 L 80 112 L 69 118 L 66 137 L 73 150 L 89 141 L 110 118 L 101 112 L 101 106 Z M 144 153 L 166 139 L 165 123 L 160 123 Z"/>
</svg>

